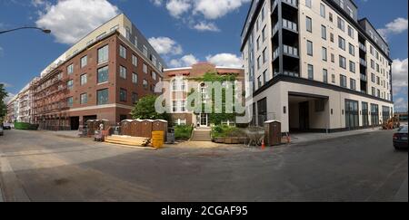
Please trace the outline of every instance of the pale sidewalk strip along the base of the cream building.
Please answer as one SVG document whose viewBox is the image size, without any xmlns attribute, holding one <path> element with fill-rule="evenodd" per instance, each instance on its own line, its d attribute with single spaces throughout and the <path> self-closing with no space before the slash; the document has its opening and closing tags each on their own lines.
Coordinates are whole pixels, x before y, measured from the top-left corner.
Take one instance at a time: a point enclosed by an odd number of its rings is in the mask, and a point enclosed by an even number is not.
<svg viewBox="0 0 409 220">
<path fill-rule="evenodd" d="M 359 129 L 359 130 L 351 130 L 351 131 L 343 131 L 343 132 L 336 132 L 336 133 L 296 133 L 290 134 L 291 135 L 291 143 L 298 144 L 304 142 L 311 142 L 316 140 L 325 140 L 325 139 L 336 139 L 348 136 L 354 136 L 374 131 L 379 131 L 381 128 L 375 129 Z"/>
</svg>

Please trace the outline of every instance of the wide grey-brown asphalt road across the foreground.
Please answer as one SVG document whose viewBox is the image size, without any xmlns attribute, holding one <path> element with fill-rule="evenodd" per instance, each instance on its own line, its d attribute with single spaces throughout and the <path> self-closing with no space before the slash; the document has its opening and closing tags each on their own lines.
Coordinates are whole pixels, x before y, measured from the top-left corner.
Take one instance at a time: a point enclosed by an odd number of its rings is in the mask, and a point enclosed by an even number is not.
<svg viewBox="0 0 409 220">
<path fill-rule="evenodd" d="M 265 150 L 122 148 L 41 131 L 0 137 L 6 201 L 406 201 L 393 131 Z"/>
</svg>

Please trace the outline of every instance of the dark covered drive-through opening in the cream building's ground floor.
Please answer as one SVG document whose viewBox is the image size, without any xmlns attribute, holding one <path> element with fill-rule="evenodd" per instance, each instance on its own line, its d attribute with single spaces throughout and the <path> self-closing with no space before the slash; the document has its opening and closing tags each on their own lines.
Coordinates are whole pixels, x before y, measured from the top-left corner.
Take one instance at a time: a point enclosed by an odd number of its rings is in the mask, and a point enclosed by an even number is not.
<svg viewBox="0 0 409 220">
<path fill-rule="evenodd" d="M 329 128 L 329 97 L 289 92 L 289 127 L 292 132 L 326 132 Z"/>
</svg>

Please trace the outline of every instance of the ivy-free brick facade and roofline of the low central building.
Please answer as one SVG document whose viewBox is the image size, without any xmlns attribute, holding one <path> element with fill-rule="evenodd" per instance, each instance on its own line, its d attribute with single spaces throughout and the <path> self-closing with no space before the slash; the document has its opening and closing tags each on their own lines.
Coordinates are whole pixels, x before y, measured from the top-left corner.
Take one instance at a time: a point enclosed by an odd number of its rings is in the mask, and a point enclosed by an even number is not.
<svg viewBox="0 0 409 220">
<path fill-rule="evenodd" d="M 209 114 L 195 113 L 189 111 L 187 106 L 187 96 L 192 90 L 200 91 L 203 101 L 210 100 L 210 95 L 206 91 L 204 81 L 197 81 L 207 72 L 217 73 L 218 75 L 234 75 L 236 81 L 244 82 L 244 69 L 231 68 L 223 66 L 215 66 L 209 62 L 199 62 L 190 67 L 165 69 L 164 81 L 170 85 L 171 99 L 171 115 L 177 125 L 195 125 L 195 127 L 209 127 Z M 166 97 L 165 97 L 166 98 Z M 226 124 L 234 123 L 235 121 L 223 121 Z"/>
</svg>

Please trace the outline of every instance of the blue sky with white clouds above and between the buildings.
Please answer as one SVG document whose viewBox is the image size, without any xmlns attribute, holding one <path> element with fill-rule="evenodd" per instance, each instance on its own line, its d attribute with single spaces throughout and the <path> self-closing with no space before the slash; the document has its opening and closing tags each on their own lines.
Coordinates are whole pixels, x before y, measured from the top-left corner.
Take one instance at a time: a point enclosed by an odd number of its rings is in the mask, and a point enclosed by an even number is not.
<svg viewBox="0 0 409 220">
<path fill-rule="evenodd" d="M 395 110 L 407 111 L 408 1 L 354 0 L 390 44 Z M 18 93 L 78 39 L 125 13 L 169 67 L 241 66 L 240 34 L 251 0 L 0 0 L 0 83 Z M 382 12 L 382 13 L 380 13 Z"/>
</svg>

